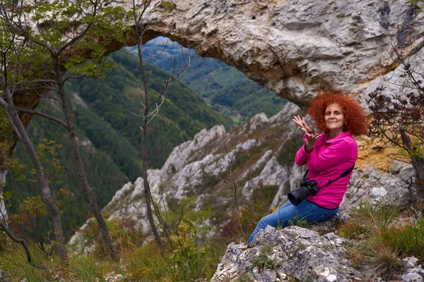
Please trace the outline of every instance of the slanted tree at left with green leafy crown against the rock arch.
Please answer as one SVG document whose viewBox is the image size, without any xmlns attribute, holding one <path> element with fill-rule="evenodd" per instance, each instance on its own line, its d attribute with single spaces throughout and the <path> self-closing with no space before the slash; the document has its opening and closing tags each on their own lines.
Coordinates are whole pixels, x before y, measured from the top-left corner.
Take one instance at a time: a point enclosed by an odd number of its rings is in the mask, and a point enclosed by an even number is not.
<svg viewBox="0 0 424 282">
<path fill-rule="evenodd" d="M 25 4 L 25 5 L 24 5 Z M 49 118 L 66 128 L 69 142 L 73 153 L 73 161 L 76 167 L 78 180 L 81 188 L 86 192 L 90 208 L 100 226 L 100 232 L 105 242 L 107 251 L 111 257 L 117 257 L 112 247 L 112 241 L 97 201 L 86 178 L 85 168 L 78 148 L 78 139 L 75 133 L 71 109 L 66 94 L 65 83 L 73 75 L 64 76 L 64 68 L 72 73 L 99 77 L 103 75 L 103 69 L 111 66 L 110 61 L 103 60 L 106 46 L 112 41 L 124 41 L 125 29 L 119 22 L 125 15 L 120 7 L 112 7 L 107 1 L 1 1 L 1 11 L 11 27 L 14 35 L 23 37 L 31 44 L 47 52 L 45 61 L 45 78 L 31 83 L 42 84 L 45 89 L 57 92 L 63 109 L 64 121 L 59 118 L 48 116 L 37 111 L 19 109 L 20 111 L 36 114 Z M 25 14 L 25 21 L 11 16 L 11 11 Z M 117 28 L 119 25 L 119 28 Z M 32 27 L 33 26 L 33 27 Z M 100 37 L 100 41 L 85 41 L 85 37 Z M 67 58 L 63 65 L 61 57 L 65 56 L 69 49 L 76 49 L 80 54 Z M 69 54 L 68 54 L 69 55 Z M 81 76 L 79 76 L 81 77 Z M 47 79 L 46 79 L 47 78 Z M 56 87 L 52 87 L 55 85 Z"/>
</svg>

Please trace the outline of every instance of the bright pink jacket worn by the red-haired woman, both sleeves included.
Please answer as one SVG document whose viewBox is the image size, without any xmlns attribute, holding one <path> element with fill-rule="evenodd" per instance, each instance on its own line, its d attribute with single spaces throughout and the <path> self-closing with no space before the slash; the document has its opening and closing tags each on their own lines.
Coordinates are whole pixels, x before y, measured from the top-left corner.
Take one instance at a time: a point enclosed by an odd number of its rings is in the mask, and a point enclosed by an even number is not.
<svg viewBox="0 0 424 282">
<path fill-rule="evenodd" d="M 306 142 L 306 137 L 303 137 Z M 351 168 L 358 157 L 358 145 L 347 131 L 329 140 L 329 135 L 322 133 L 314 145 L 312 152 L 305 151 L 305 145 L 296 153 L 295 162 L 298 166 L 307 165 L 310 171 L 307 178 L 317 181 L 317 186 L 322 187 L 329 180 L 334 180 L 341 173 Z M 316 196 L 309 195 L 306 199 L 326 209 L 336 209 L 343 200 L 343 195 L 348 189 L 352 173 L 343 178 L 338 178 L 334 183 L 320 189 Z"/>
</svg>

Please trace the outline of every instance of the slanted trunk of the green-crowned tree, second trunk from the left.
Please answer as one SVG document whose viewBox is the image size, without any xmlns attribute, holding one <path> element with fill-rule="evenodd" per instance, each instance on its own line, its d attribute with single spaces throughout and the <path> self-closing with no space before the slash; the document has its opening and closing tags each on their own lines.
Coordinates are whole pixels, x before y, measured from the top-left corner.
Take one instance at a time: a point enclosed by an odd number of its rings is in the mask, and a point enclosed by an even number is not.
<svg viewBox="0 0 424 282">
<path fill-rule="evenodd" d="M 95 195 L 93 192 L 93 189 L 90 188 L 90 185 L 88 184 L 88 180 L 86 177 L 86 171 L 84 169 L 83 161 L 81 159 L 81 154 L 79 152 L 78 148 L 78 141 L 76 139 L 75 130 L 73 128 L 73 121 L 71 118 L 71 111 L 69 109 L 69 103 L 66 99 L 66 93 L 65 93 L 65 87 L 64 87 L 64 80 L 61 75 L 60 71 L 60 64 L 58 56 L 54 56 L 53 59 L 54 63 L 54 71 L 56 72 L 57 81 L 58 81 L 58 87 L 59 87 L 59 94 L 61 97 L 61 104 L 62 108 L 64 110 L 64 116 L 66 119 L 66 124 L 68 125 L 68 137 L 69 142 L 71 143 L 72 148 L 72 156 L 73 156 L 73 163 L 76 167 L 76 173 L 78 175 L 78 180 L 81 184 L 81 188 L 86 192 L 88 197 L 88 202 L 90 203 L 91 211 L 94 214 L 94 217 L 96 221 L 98 222 L 98 225 L 100 227 L 100 233 L 102 234 L 103 241 L 105 242 L 107 252 L 109 252 L 110 257 L 113 259 L 117 258 L 116 252 L 114 252 L 114 248 L 112 246 L 112 238 L 110 238 L 109 230 L 107 228 L 105 219 L 103 219 L 103 216 L 100 212 L 100 209 L 97 204 L 97 200 L 95 199 Z"/>
</svg>

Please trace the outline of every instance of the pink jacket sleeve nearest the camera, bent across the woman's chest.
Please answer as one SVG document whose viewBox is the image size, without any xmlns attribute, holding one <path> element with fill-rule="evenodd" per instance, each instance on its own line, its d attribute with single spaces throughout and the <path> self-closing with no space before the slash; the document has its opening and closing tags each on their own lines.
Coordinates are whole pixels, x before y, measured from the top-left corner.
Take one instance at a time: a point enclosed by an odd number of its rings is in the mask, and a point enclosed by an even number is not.
<svg viewBox="0 0 424 282">
<path fill-rule="evenodd" d="M 341 139 L 332 143 L 319 154 L 317 154 L 316 150 L 312 150 L 310 157 L 306 161 L 307 168 L 315 173 L 326 171 L 351 159 L 357 152 L 358 145 L 356 145 L 356 142 L 348 142 L 348 140 Z"/>
</svg>

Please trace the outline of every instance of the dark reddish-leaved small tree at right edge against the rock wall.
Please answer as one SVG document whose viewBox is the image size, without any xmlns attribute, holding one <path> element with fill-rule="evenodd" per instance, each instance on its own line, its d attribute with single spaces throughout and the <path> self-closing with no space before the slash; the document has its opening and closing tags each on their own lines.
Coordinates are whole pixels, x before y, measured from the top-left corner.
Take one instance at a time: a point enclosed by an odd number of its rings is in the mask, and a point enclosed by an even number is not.
<svg viewBox="0 0 424 282">
<path fill-rule="evenodd" d="M 424 73 L 415 71 L 394 44 L 391 53 L 401 66 L 401 82 L 396 83 L 397 92 L 385 94 L 382 86 L 369 94 L 370 134 L 383 135 L 411 160 L 418 200 L 424 202 Z"/>
</svg>

